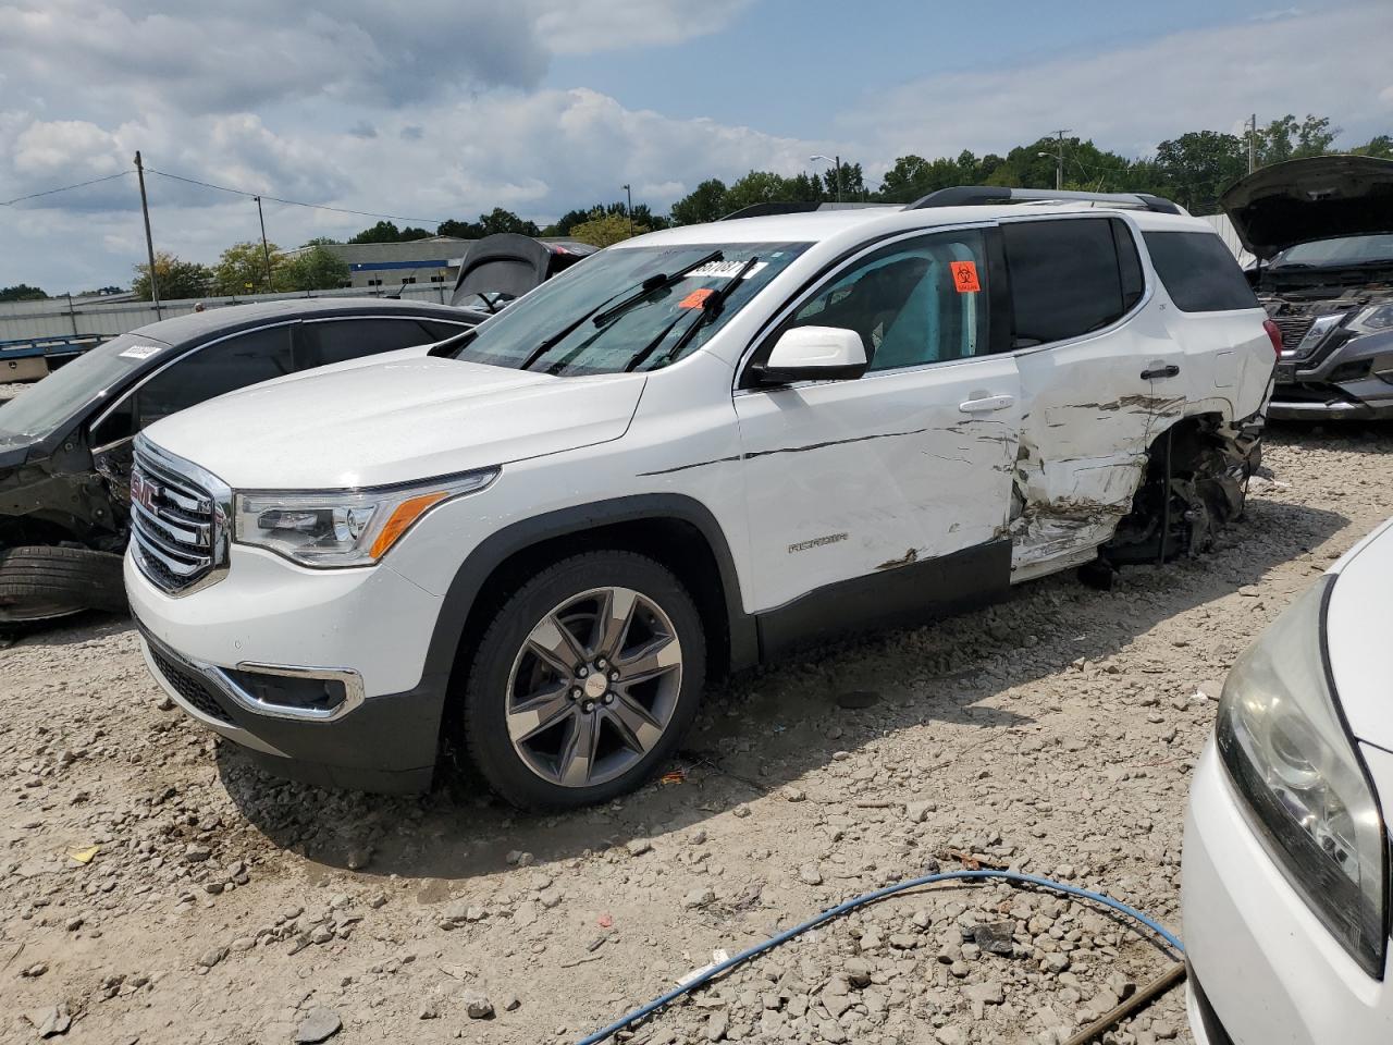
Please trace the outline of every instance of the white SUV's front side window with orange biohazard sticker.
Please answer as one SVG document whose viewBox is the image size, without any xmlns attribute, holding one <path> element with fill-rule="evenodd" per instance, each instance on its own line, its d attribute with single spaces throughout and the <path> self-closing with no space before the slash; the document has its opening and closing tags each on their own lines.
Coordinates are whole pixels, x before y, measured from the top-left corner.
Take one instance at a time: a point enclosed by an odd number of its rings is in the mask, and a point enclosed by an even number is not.
<svg viewBox="0 0 1393 1045">
<path fill-rule="evenodd" d="M 985 355 L 988 291 L 982 234 L 937 233 L 855 262 L 819 288 L 784 329 L 855 330 L 871 371 Z"/>
</svg>

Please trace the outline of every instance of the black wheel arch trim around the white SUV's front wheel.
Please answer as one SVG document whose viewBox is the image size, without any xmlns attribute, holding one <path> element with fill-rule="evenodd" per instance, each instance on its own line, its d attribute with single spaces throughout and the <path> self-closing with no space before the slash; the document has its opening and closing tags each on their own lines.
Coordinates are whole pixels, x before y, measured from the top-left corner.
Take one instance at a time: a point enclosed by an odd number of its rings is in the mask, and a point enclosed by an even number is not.
<svg viewBox="0 0 1393 1045">
<path fill-rule="evenodd" d="M 581 504 L 513 522 L 489 535 L 456 571 L 426 652 L 426 676 L 447 701 L 462 690 L 472 649 L 507 594 L 545 566 L 581 552 L 638 552 L 671 570 L 706 627 L 708 677 L 754 666 L 758 638 L 744 612 L 724 531 L 701 502 L 651 493 Z"/>
</svg>

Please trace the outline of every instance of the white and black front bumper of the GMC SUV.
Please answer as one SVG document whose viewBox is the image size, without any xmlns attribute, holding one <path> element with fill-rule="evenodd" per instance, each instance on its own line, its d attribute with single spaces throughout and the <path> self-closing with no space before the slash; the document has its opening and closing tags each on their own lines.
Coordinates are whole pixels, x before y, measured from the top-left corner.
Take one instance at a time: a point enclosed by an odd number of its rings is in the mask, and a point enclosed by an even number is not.
<svg viewBox="0 0 1393 1045">
<path fill-rule="evenodd" d="M 440 599 L 383 567 L 332 575 L 259 552 L 240 557 L 220 584 L 171 598 L 127 556 L 131 610 L 162 688 L 276 775 L 375 791 L 429 787 L 447 679 L 423 665 Z M 259 705 L 227 674 L 249 663 L 337 674 L 347 697 L 329 713 Z"/>
</svg>

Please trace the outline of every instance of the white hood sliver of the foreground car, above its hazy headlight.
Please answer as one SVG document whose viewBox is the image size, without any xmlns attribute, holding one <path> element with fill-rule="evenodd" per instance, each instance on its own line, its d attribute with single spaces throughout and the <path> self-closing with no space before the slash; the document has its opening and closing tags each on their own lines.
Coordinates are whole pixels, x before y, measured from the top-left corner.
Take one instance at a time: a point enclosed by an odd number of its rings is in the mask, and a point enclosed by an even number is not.
<svg viewBox="0 0 1393 1045">
<path fill-rule="evenodd" d="M 1393 609 L 1393 520 L 1346 552 L 1326 610 L 1330 674 L 1350 732 L 1393 751 L 1393 673 L 1387 627 Z"/>
</svg>

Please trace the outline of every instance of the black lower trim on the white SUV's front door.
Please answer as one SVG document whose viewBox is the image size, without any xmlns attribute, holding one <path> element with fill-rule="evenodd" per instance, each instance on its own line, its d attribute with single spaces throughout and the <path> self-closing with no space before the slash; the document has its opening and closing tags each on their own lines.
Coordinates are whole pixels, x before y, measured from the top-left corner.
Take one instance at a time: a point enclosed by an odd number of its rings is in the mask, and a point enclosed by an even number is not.
<svg viewBox="0 0 1393 1045">
<path fill-rule="evenodd" d="M 864 631 L 910 627 L 1000 602 L 1011 589 L 1006 538 L 936 559 L 907 557 L 758 616 L 763 660 Z"/>
</svg>

